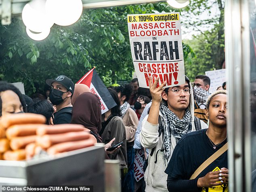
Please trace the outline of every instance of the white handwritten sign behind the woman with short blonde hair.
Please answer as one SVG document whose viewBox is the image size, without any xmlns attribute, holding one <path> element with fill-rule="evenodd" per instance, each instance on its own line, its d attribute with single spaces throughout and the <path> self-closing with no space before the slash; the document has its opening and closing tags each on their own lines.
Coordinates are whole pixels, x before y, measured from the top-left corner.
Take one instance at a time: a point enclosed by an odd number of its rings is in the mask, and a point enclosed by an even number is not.
<svg viewBox="0 0 256 192">
<path fill-rule="evenodd" d="M 210 93 L 213 93 L 217 90 L 219 86 L 222 86 L 222 83 L 226 81 L 226 69 L 218 69 L 214 71 L 206 71 L 206 75 L 210 78 Z"/>
</svg>

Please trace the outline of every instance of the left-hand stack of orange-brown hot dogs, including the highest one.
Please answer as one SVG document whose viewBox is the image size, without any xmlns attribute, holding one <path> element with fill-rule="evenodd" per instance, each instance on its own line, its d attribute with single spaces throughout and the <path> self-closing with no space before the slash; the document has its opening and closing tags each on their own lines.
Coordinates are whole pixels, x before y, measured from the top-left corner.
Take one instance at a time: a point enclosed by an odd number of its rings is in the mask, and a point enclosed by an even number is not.
<svg viewBox="0 0 256 192">
<path fill-rule="evenodd" d="M 12 114 L 1 119 L 1 129 L 6 138 L 0 142 L 4 160 L 24 160 L 25 146 L 36 141 L 36 129 L 46 122 L 43 115 L 32 113 Z M 3 135 L 2 135 L 3 136 Z"/>
</svg>

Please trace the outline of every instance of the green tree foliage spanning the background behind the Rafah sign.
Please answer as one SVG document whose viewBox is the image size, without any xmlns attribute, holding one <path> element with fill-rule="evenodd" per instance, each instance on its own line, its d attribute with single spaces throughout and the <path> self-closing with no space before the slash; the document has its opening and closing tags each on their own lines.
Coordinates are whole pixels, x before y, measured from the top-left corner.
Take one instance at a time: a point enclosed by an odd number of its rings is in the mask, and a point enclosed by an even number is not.
<svg viewBox="0 0 256 192">
<path fill-rule="evenodd" d="M 183 11 L 185 19 L 185 13 L 204 5 L 204 1 L 193 2 L 187 10 L 175 10 L 165 2 L 84 10 L 78 22 L 68 27 L 54 25 L 48 38 L 40 42 L 27 36 L 21 19 L 13 18 L 10 25 L 0 25 L 0 80 L 22 81 L 28 95 L 42 91 L 45 79 L 65 74 L 77 82 L 94 66 L 106 86 L 131 80 L 134 67 L 127 15 Z M 218 27 L 216 23 L 211 31 L 183 43 L 190 78 L 216 67 L 212 46 L 220 46 L 224 39 L 223 35 L 218 39 Z"/>
</svg>

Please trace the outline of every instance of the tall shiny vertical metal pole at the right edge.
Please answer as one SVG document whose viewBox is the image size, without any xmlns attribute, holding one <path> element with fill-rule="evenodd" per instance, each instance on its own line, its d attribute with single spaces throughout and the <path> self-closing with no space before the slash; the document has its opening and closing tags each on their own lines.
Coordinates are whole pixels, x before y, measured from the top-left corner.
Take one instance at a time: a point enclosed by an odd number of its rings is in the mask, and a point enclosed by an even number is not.
<svg viewBox="0 0 256 192">
<path fill-rule="evenodd" d="M 225 2 L 229 191 L 251 191 L 250 39 L 248 0 Z"/>
</svg>

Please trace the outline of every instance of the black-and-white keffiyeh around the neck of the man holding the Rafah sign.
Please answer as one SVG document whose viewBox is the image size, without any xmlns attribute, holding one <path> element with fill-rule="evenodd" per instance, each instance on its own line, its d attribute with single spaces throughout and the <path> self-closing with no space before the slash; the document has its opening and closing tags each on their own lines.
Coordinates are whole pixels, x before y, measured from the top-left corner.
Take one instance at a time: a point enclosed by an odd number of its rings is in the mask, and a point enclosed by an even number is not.
<svg viewBox="0 0 256 192">
<path fill-rule="evenodd" d="M 164 158 L 168 162 L 171 158 L 171 145 L 172 148 L 174 148 L 176 143 L 184 134 L 192 131 L 192 126 L 189 126 L 191 125 L 191 114 L 190 111 L 186 109 L 183 119 L 179 119 L 166 104 L 162 104 L 160 106 L 160 112 L 163 115 L 162 126 L 164 127 Z"/>
</svg>

